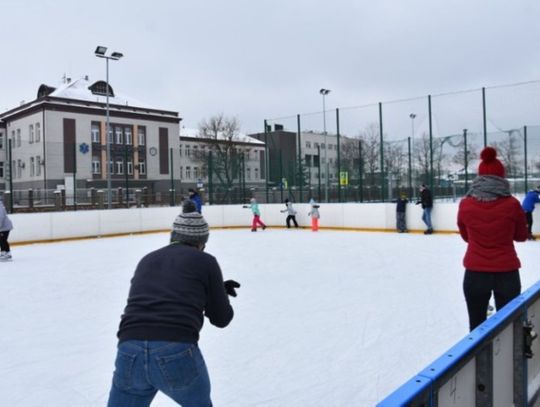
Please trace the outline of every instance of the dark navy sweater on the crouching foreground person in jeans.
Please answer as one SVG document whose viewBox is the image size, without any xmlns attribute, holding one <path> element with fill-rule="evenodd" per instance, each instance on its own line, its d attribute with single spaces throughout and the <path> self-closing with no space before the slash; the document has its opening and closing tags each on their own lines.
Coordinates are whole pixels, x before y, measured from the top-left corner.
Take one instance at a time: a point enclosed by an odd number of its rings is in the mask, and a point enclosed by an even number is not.
<svg viewBox="0 0 540 407">
<path fill-rule="evenodd" d="M 195 247 L 171 244 L 137 265 L 118 339 L 197 343 L 204 316 L 220 328 L 233 318 L 219 265 Z"/>
</svg>

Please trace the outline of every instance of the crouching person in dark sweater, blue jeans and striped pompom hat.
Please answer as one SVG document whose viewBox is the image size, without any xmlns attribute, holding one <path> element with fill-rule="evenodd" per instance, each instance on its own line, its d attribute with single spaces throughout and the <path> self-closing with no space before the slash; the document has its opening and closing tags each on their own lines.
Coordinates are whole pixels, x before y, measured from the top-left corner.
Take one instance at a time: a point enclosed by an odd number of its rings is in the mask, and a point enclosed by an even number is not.
<svg viewBox="0 0 540 407">
<path fill-rule="evenodd" d="M 210 379 L 197 345 L 206 316 L 223 328 L 233 318 L 216 259 L 204 253 L 208 224 L 185 201 L 170 244 L 137 265 L 118 330 L 109 407 L 149 406 L 158 391 L 184 407 L 210 407 Z"/>
</svg>

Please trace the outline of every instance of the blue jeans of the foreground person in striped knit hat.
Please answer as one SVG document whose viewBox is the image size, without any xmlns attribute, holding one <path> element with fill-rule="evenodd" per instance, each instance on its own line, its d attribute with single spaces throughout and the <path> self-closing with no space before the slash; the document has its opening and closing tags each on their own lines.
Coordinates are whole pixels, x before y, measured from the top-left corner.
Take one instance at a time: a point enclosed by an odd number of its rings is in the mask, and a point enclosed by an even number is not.
<svg viewBox="0 0 540 407">
<path fill-rule="evenodd" d="M 182 407 L 211 407 L 210 378 L 192 343 L 121 342 L 108 407 L 148 407 L 161 391 Z"/>
</svg>

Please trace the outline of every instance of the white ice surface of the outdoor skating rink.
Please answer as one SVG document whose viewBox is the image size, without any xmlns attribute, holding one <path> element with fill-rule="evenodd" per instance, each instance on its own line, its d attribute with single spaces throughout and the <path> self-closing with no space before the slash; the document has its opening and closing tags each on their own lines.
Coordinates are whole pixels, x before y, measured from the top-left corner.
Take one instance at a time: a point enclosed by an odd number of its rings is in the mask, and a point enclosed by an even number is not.
<svg viewBox="0 0 540 407">
<path fill-rule="evenodd" d="M 133 270 L 167 240 L 15 247 L 0 264 L 0 405 L 106 405 Z M 538 243 L 517 248 L 525 289 Z M 376 404 L 467 334 L 464 250 L 458 235 L 213 230 L 207 251 L 242 284 L 231 325 L 201 333 L 214 405 Z"/>
</svg>

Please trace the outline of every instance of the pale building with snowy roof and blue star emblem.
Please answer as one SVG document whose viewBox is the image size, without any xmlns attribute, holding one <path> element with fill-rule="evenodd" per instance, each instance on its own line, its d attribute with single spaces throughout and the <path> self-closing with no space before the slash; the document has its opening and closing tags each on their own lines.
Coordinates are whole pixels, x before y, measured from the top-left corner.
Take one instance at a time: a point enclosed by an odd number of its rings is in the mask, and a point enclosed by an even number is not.
<svg viewBox="0 0 540 407">
<path fill-rule="evenodd" d="M 107 165 L 106 97 L 110 162 Z M 14 197 L 32 189 L 144 188 L 171 183 L 171 149 L 179 148 L 178 112 L 115 94 L 103 81 L 66 79 L 41 85 L 35 100 L 0 114 L 0 176 Z M 9 145 L 11 144 L 11 148 Z M 7 180 L 11 180 L 11 185 Z"/>
</svg>

